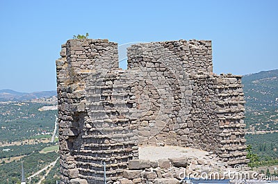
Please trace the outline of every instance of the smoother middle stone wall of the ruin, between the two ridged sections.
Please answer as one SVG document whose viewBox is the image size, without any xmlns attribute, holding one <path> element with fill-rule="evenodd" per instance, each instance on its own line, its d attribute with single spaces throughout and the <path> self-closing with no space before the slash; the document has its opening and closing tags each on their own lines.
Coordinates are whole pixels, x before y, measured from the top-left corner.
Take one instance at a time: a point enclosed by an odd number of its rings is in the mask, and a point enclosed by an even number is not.
<svg viewBox="0 0 278 184">
<path fill-rule="evenodd" d="M 218 99 L 211 41 L 137 44 L 129 48 L 128 58 L 129 69 L 143 71 L 146 82 L 136 90 L 138 109 L 145 112 L 138 124 L 139 144 L 215 150 Z"/>
</svg>

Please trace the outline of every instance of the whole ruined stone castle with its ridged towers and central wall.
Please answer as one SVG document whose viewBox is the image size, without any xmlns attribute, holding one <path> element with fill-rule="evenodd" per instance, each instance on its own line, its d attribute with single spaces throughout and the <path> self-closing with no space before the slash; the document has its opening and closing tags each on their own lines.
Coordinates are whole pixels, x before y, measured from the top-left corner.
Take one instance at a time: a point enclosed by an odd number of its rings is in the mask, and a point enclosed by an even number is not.
<svg viewBox="0 0 278 184">
<path fill-rule="evenodd" d="M 241 76 L 213 74 L 211 41 L 131 45 L 126 70 L 119 68 L 117 43 L 108 40 L 68 40 L 60 56 L 63 183 L 103 177 L 104 162 L 108 182 L 159 183 L 158 172 L 147 172 L 163 165 L 138 160 L 140 147 L 201 149 L 230 166 L 249 161 Z"/>
</svg>

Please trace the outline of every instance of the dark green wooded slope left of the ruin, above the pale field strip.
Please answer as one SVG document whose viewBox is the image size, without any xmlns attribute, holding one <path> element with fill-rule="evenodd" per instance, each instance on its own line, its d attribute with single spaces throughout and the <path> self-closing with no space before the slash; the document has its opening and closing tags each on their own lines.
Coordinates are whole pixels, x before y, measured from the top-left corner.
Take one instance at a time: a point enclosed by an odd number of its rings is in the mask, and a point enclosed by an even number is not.
<svg viewBox="0 0 278 184">
<path fill-rule="evenodd" d="M 0 142 L 30 139 L 54 130 L 56 110 L 39 109 L 46 103 L 30 101 L 0 103 Z"/>
</svg>

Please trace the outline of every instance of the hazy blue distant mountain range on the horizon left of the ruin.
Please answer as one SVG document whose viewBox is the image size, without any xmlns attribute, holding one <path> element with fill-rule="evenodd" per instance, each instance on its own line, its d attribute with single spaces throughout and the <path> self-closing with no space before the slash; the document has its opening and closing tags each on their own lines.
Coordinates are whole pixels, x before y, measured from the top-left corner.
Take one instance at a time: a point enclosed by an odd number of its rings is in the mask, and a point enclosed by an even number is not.
<svg viewBox="0 0 278 184">
<path fill-rule="evenodd" d="M 14 90 L 0 90 L 0 101 L 22 101 L 56 96 L 56 91 L 16 92 Z"/>
</svg>

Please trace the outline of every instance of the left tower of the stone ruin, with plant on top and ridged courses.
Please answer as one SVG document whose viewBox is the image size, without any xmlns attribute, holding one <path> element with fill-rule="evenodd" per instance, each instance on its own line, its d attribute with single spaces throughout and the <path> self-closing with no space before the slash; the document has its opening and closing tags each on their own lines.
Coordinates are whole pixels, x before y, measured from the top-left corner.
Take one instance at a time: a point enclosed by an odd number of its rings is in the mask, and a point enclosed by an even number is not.
<svg viewBox="0 0 278 184">
<path fill-rule="evenodd" d="M 118 65 L 117 44 L 69 40 L 61 56 L 56 61 L 61 180 L 73 183 L 104 176 L 104 162 L 106 175 L 113 178 L 127 161 L 138 158 L 134 121 L 125 106 L 133 100 L 122 101 L 124 83 L 113 85 L 120 74 L 127 80 L 124 72 L 112 72 Z"/>
</svg>

